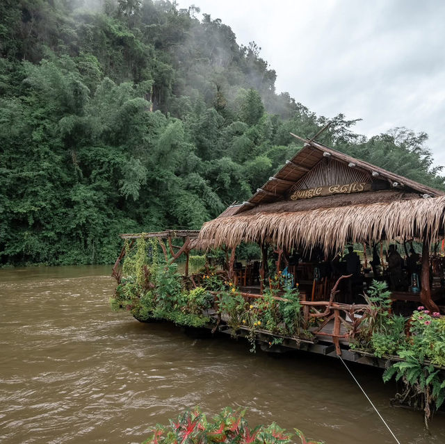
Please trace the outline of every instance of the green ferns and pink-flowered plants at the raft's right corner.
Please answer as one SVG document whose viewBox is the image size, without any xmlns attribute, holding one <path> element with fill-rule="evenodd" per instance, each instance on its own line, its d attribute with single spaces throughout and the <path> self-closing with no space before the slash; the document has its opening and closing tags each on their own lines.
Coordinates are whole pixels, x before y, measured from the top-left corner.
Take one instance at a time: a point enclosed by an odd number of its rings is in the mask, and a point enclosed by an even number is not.
<svg viewBox="0 0 445 444">
<path fill-rule="evenodd" d="M 374 281 L 366 300 L 369 313 L 351 347 L 371 351 L 392 362 L 383 375 L 385 382 L 395 376 L 404 391 L 397 402 L 425 411 L 428 427 L 435 409 L 445 400 L 445 380 L 437 367 L 445 367 L 445 316 L 419 306 L 410 318 L 389 315 L 386 283 Z"/>
</svg>

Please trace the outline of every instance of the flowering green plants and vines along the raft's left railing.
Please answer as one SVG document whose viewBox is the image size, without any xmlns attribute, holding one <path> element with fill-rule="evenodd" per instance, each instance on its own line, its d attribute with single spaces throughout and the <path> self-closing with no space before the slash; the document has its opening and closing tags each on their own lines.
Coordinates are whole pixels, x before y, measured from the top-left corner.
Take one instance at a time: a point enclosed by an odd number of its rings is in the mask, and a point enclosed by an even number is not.
<svg viewBox="0 0 445 444">
<path fill-rule="evenodd" d="M 130 311 L 140 321 L 170 320 L 190 327 L 209 327 L 223 318 L 232 336 L 240 330 L 248 332 L 251 352 L 260 330 L 270 335 L 269 346 L 281 343 L 284 337 L 312 336 L 303 329 L 298 287 L 293 288 L 281 273 L 265 286 L 264 297 L 248 302 L 226 272 L 207 264 L 203 273 L 195 275 L 200 285 L 193 288 L 191 279 L 179 274 L 177 264 L 165 260 L 154 238 L 141 236 L 136 247 L 130 249 L 127 243 L 126 249 L 122 274 L 110 300 L 116 311 Z"/>
</svg>

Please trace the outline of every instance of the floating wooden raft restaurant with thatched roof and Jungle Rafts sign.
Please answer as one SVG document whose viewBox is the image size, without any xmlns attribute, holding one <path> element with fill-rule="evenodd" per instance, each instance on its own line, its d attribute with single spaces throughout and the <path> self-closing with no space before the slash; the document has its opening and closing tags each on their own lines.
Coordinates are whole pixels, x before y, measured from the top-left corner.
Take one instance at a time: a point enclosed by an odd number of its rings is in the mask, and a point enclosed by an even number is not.
<svg viewBox="0 0 445 444">
<path fill-rule="evenodd" d="M 159 239 L 170 262 L 184 254 L 184 275 L 195 287 L 200 286 L 205 272 L 189 274 L 190 252 L 223 249 L 226 260 L 221 273 L 232 279 L 248 300 L 263 297 L 265 286 L 273 284 L 268 283 L 270 276 L 285 270 L 286 277 L 300 289 L 305 325 L 310 326 L 311 320 L 323 322 L 308 327 L 312 338 L 282 338 L 282 347 L 341 354 L 344 359 L 384 366 L 385 360 L 349 349 L 350 340 L 369 313 L 359 294 L 373 279 L 386 280 L 395 283 L 391 288 L 394 311 L 407 313 L 417 305 L 441 311 L 445 296 L 444 217 L 445 192 L 310 140 L 247 202 L 229 206 L 200 231 L 168 230 L 143 236 Z M 140 236 L 121 235 L 127 240 Z M 174 245 L 177 239 L 181 245 Z M 237 261 L 236 247 L 242 243 L 259 245 L 261 258 Z M 362 270 L 351 279 L 347 261 L 338 255 L 354 244 L 363 245 Z M 389 244 L 398 245 L 398 252 L 406 256 L 407 245 L 421 249 L 418 270 L 405 270 L 397 280 L 392 279 L 384 257 Z M 125 251 L 122 249 L 113 268 L 115 277 Z M 268 269 L 270 260 L 273 270 Z M 412 282 L 414 274 L 417 285 Z M 224 317 L 209 314 L 218 318 L 214 329 L 248 335 L 247 328 L 231 331 Z M 270 332 L 257 329 L 256 334 L 259 343 L 270 344 Z"/>
</svg>

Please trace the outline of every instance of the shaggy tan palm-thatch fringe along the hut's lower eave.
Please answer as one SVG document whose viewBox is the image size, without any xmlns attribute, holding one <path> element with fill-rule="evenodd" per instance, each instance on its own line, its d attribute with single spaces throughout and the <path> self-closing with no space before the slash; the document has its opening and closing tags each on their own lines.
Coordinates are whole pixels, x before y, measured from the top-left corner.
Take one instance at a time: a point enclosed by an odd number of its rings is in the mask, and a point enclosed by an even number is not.
<svg viewBox="0 0 445 444">
<path fill-rule="evenodd" d="M 202 246 L 235 247 L 267 242 L 291 249 L 322 245 L 337 250 L 347 242 L 422 238 L 437 240 L 444 229 L 445 197 L 356 204 L 335 208 L 218 217 L 204 224 Z"/>
</svg>

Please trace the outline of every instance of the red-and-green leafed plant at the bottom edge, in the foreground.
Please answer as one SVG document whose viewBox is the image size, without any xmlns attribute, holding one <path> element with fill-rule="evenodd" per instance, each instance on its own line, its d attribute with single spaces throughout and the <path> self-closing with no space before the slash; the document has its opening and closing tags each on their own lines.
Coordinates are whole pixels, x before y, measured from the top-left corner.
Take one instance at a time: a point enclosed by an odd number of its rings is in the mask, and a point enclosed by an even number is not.
<svg viewBox="0 0 445 444">
<path fill-rule="evenodd" d="M 291 444 L 299 438 L 302 444 L 321 444 L 320 441 L 307 441 L 302 432 L 289 434 L 273 422 L 268 427 L 259 425 L 250 429 L 244 418 L 245 409 L 233 410 L 226 407 L 207 421 L 199 407 L 170 420 L 170 425 L 157 424 L 152 428 L 152 436 L 144 444 Z"/>
</svg>

